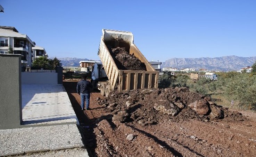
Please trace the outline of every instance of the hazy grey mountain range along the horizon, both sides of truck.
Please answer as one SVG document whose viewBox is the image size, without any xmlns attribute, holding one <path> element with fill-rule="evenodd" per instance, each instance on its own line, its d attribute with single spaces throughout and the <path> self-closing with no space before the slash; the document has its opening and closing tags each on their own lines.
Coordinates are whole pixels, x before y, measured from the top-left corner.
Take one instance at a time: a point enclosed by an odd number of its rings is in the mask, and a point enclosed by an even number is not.
<svg viewBox="0 0 256 157">
<path fill-rule="evenodd" d="M 88 61 L 87 58 L 58 58 L 62 66 L 80 66 L 80 61 Z M 254 57 L 238 57 L 238 56 L 223 56 L 223 57 L 202 57 L 202 58 L 171 58 L 162 62 L 161 67 L 172 68 L 194 68 L 199 70 L 201 68 L 208 71 L 238 71 L 243 67 L 252 66 L 256 62 Z"/>
</svg>

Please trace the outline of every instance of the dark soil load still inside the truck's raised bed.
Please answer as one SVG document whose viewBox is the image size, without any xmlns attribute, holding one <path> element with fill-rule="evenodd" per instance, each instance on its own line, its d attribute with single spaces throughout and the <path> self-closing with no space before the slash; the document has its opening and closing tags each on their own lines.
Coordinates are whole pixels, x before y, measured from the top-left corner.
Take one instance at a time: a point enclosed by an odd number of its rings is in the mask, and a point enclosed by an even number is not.
<svg viewBox="0 0 256 157">
<path fill-rule="evenodd" d="M 147 71 L 145 63 L 134 55 L 129 54 L 124 47 L 109 48 L 109 51 L 119 70 Z"/>
</svg>

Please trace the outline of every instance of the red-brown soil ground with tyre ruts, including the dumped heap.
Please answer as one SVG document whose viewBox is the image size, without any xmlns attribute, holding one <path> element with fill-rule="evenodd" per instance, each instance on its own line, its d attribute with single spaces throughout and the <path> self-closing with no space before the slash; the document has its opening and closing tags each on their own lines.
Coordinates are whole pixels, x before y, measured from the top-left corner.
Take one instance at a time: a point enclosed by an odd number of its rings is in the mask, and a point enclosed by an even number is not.
<svg viewBox="0 0 256 157">
<path fill-rule="evenodd" d="M 93 91 L 91 110 L 81 111 L 76 84 L 77 81 L 63 82 L 92 157 L 253 157 L 256 154 L 253 112 L 241 111 L 241 114 L 218 106 L 210 98 L 185 88 L 114 92 L 108 98 Z M 188 107 L 195 101 L 207 102 L 207 114 L 200 115 Z M 221 114 L 213 116 L 214 111 Z"/>
</svg>

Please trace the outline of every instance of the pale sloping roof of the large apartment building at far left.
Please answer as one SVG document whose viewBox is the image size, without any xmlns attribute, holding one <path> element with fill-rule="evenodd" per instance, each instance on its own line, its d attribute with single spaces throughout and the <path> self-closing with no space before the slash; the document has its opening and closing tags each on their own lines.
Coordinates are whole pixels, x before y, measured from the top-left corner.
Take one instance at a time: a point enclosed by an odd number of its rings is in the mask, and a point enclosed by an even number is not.
<svg viewBox="0 0 256 157">
<path fill-rule="evenodd" d="M 32 46 L 35 46 L 35 43 L 26 34 L 18 33 L 18 30 L 15 27 L 0 26 L 0 36 L 26 38 Z"/>
</svg>

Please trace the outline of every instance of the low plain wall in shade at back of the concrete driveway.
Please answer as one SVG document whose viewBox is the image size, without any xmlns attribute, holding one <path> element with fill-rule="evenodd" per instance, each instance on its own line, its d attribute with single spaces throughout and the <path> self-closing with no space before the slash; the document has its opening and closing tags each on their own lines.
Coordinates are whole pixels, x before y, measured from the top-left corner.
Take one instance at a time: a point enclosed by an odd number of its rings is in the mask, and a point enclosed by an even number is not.
<svg viewBox="0 0 256 157">
<path fill-rule="evenodd" d="M 22 84 L 58 84 L 58 73 L 21 73 Z"/>
</svg>

